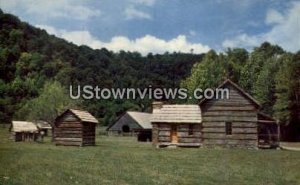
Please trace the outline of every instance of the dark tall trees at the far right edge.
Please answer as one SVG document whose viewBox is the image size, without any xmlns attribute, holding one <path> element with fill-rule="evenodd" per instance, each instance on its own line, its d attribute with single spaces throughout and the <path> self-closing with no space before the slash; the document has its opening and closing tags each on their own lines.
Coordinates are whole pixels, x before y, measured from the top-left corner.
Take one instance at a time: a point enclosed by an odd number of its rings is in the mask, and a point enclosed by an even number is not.
<svg viewBox="0 0 300 185">
<path fill-rule="evenodd" d="M 284 125 L 284 139 L 299 140 L 300 132 L 300 52 L 287 54 L 276 75 L 275 117 Z"/>
</svg>

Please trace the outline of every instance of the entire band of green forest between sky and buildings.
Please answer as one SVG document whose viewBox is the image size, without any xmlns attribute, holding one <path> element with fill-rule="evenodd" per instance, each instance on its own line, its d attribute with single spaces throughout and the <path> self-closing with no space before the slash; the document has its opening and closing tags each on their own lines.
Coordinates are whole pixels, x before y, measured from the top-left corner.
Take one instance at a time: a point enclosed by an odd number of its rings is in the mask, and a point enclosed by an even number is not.
<svg viewBox="0 0 300 185">
<path fill-rule="evenodd" d="M 73 101 L 68 97 L 69 85 L 151 85 L 184 87 L 192 92 L 197 87 L 217 87 L 226 78 L 253 95 L 263 112 L 280 120 L 291 139 L 299 139 L 300 51 L 286 52 L 267 42 L 250 52 L 229 48 L 203 55 L 166 52 L 142 56 L 138 52 L 93 50 L 49 35 L 0 10 L 1 123 L 12 119 L 51 121 L 63 109 L 78 107 L 107 125 L 126 110 L 151 109 L 149 99 Z"/>
</svg>

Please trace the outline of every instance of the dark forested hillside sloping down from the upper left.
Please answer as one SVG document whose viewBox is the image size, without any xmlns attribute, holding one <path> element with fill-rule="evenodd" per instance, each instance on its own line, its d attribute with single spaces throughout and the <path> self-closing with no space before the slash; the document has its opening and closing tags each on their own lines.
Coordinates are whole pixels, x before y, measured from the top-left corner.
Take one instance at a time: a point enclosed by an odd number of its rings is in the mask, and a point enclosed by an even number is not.
<svg viewBox="0 0 300 185">
<path fill-rule="evenodd" d="M 1 11 L 0 122 L 8 123 L 13 117 L 29 119 L 29 114 L 34 112 L 33 117 L 45 118 L 47 112 L 62 109 L 52 109 L 55 106 L 71 104 L 74 107 L 74 103 L 67 101 L 57 105 L 49 101 L 61 95 L 60 88 L 68 93 L 72 84 L 101 88 L 179 87 L 180 81 L 201 58 L 202 55 L 195 54 L 150 53 L 144 57 L 137 52 L 93 50 L 56 38 Z M 60 100 L 65 99 L 60 97 Z M 107 125 L 128 109 L 149 110 L 151 101 L 110 99 L 75 104 Z"/>
</svg>

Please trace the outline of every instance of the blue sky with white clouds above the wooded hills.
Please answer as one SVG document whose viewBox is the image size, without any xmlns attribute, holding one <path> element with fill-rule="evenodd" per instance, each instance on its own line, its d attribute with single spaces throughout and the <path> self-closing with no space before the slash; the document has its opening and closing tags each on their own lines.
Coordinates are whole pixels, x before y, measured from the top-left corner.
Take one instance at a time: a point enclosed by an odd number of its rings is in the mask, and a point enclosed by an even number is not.
<svg viewBox="0 0 300 185">
<path fill-rule="evenodd" d="M 77 45 L 118 52 L 300 50 L 300 1 L 0 0 L 0 8 Z"/>
</svg>

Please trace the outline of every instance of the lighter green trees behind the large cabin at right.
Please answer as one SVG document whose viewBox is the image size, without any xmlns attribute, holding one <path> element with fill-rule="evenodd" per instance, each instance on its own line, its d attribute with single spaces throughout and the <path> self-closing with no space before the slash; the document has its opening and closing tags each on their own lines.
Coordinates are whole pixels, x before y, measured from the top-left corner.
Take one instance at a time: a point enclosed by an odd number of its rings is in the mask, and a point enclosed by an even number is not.
<svg viewBox="0 0 300 185">
<path fill-rule="evenodd" d="M 209 51 L 181 86 L 217 87 L 227 78 L 251 94 L 262 112 L 279 121 L 284 139 L 300 139 L 300 51 L 286 52 L 268 42 L 250 53 L 238 48 L 219 54 Z"/>
</svg>

